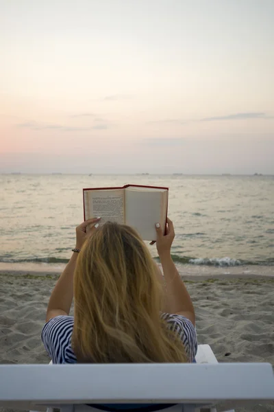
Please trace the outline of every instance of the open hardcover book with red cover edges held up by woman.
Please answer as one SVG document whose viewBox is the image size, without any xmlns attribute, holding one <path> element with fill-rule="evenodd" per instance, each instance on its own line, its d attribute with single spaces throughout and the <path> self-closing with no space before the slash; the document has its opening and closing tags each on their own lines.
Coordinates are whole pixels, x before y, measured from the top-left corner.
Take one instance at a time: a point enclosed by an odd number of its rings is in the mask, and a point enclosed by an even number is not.
<svg viewBox="0 0 274 412">
<path fill-rule="evenodd" d="M 84 220 L 117 222 L 134 227 L 143 240 L 156 240 L 155 223 L 166 227 L 168 187 L 125 185 L 83 189 Z"/>
</svg>

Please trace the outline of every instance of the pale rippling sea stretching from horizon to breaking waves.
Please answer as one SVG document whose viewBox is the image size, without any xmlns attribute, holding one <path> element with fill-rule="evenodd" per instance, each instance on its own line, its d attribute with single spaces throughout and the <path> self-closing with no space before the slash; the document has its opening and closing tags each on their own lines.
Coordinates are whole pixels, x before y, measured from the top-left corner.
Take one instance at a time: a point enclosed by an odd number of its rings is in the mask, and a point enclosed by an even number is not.
<svg viewBox="0 0 274 412">
<path fill-rule="evenodd" d="M 62 266 L 83 221 L 82 189 L 127 183 L 169 187 L 178 264 L 274 266 L 274 176 L 184 174 L 1 174 L 0 266 Z"/>
</svg>

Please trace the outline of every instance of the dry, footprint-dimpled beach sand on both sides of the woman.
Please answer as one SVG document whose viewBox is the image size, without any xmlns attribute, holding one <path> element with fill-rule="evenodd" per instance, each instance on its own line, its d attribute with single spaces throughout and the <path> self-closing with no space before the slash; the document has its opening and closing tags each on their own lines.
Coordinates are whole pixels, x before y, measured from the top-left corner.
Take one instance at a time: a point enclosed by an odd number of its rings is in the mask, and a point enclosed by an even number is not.
<svg viewBox="0 0 274 412">
<path fill-rule="evenodd" d="M 220 271 L 210 276 L 208 268 L 195 270 L 196 274 L 185 273 L 199 343 L 208 343 L 219 362 L 274 365 L 273 272 L 236 277 Z M 49 362 L 40 332 L 57 278 L 55 273 L 42 272 L 0 274 L 0 363 Z M 274 402 L 236 409 L 240 410 L 274 411 Z"/>
</svg>

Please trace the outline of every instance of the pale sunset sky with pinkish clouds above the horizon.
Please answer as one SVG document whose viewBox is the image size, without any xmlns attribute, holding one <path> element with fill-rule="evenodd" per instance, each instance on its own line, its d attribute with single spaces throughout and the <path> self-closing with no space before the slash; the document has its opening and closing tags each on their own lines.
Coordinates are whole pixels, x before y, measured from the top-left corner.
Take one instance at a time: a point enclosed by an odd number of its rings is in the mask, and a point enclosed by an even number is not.
<svg viewBox="0 0 274 412">
<path fill-rule="evenodd" d="M 273 0 L 0 0 L 0 172 L 274 174 Z"/>
</svg>

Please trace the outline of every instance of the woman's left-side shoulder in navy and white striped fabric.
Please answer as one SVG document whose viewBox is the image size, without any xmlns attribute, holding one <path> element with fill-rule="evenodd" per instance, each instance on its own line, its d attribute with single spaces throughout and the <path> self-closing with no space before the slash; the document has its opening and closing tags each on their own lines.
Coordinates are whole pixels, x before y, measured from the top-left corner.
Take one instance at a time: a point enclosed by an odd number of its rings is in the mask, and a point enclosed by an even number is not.
<svg viewBox="0 0 274 412">
<path fill-rule="evenodd" d="M 53 363 L 75 363 L 71 347 L 74 319 L 72 316 L 56 316 L 42 328 L 42 343 Z"/>
</svg>

